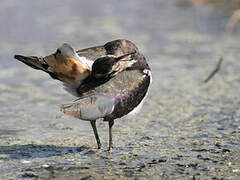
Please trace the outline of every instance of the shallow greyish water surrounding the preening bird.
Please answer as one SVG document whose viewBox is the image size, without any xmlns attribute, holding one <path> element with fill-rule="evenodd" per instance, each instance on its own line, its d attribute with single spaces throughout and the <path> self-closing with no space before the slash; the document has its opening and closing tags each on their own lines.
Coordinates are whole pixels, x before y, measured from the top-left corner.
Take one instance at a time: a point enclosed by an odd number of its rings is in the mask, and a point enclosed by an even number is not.
<svg viewBox="0 0 240 180">
<path fill-rule="evenodd" d="M 225 33 L 230 9 L 172 1 L 27 1 L 0 6 L 0 178 L 237 179 L 240 176 L 240 57 Z M 114 149 L 98 121 L 59 112 L 74 100 L 61 83 L 13 59 L 113 39 L 133 41 L 153 84 L 137 116 L 116 120 Z M 221 71 L 203 84 L 224 58 Z"/>
</svg>

